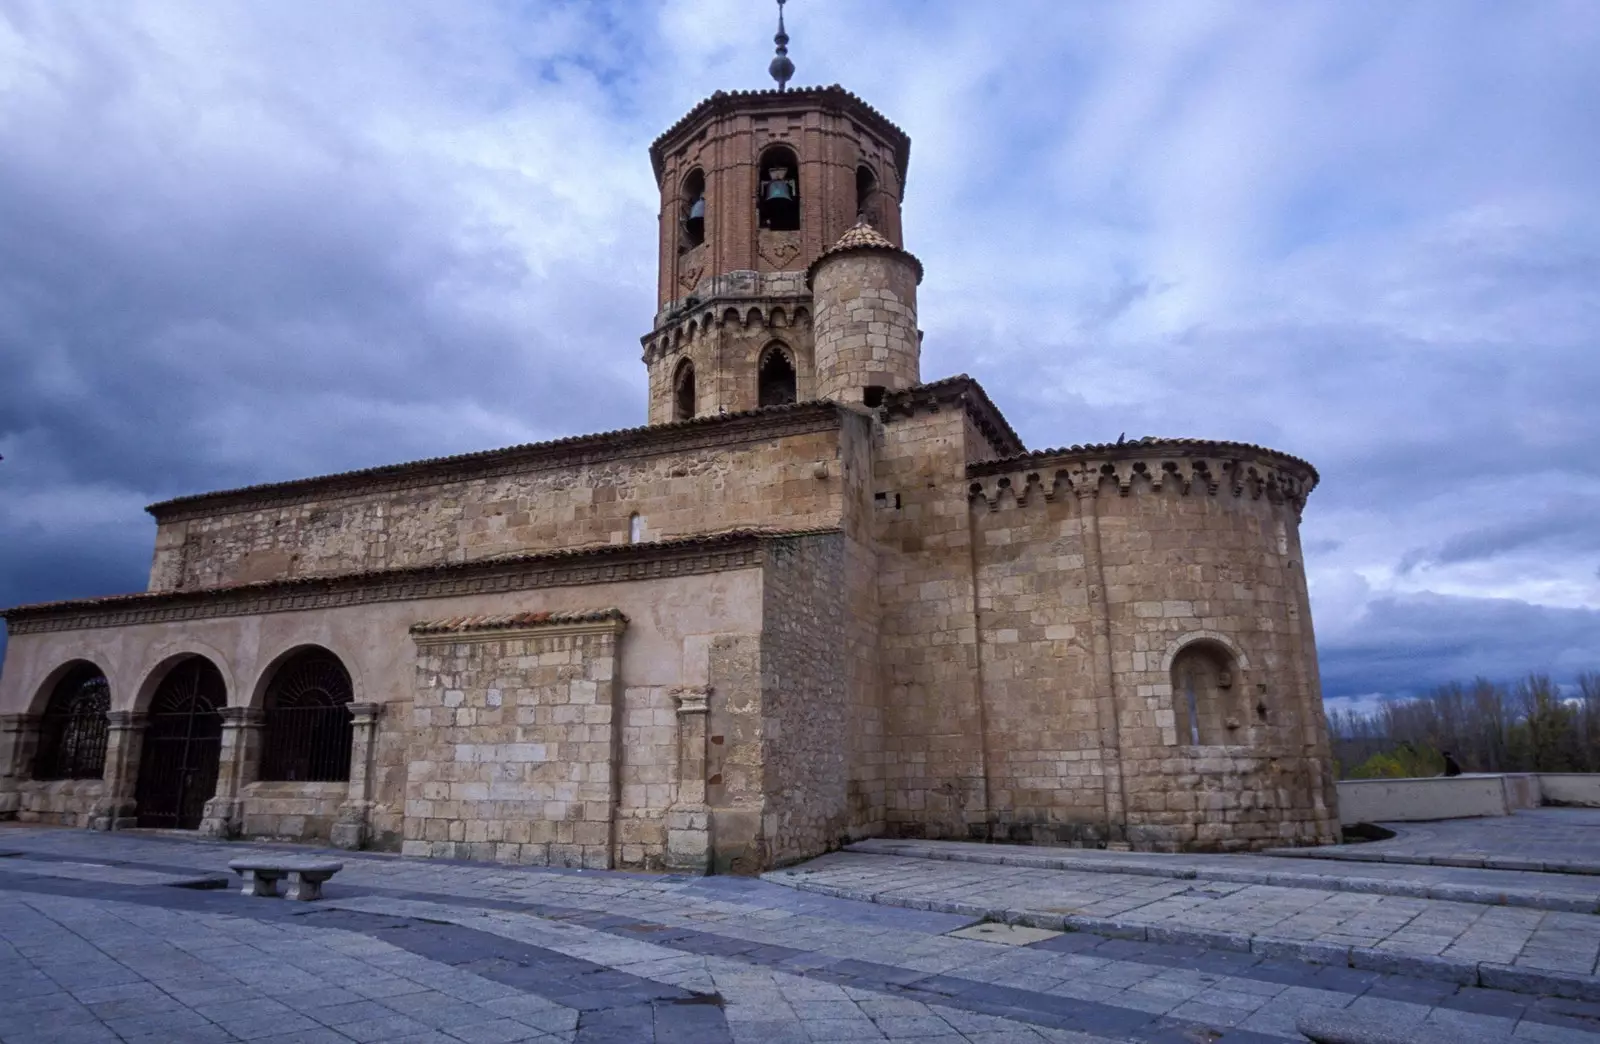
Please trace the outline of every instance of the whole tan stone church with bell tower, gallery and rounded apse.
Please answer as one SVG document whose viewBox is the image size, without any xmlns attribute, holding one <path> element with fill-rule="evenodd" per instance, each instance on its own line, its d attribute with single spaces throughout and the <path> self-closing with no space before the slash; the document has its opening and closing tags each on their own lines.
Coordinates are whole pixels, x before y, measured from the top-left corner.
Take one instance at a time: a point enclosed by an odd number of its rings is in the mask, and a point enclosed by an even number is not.
<svg viewBox="0 0 1600 1044">
<path fill-rule="evenodd" d="M 0 817 L 734 873 L 1333 841 L 1315 469 L 1029 450 L 925 381 L 910 139 L 773 72 L 650 146 L 645 426 L 154 504 L 146 591 L 5 612 Z"/>
</svg>

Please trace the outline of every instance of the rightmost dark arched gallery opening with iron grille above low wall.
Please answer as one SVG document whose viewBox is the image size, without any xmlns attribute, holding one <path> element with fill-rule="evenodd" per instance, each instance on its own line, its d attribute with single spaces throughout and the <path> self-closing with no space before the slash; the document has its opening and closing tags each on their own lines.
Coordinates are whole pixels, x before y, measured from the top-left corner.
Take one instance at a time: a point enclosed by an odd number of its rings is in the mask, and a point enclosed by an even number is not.
<svg viewBox="0 0 1600 1044">
<path fill-rule="evenodd" d="M 350 673 L 326 648 L 298 652 L 278 666 L 264 701 L 261 778 L 350 778 Z"/>
</svg>

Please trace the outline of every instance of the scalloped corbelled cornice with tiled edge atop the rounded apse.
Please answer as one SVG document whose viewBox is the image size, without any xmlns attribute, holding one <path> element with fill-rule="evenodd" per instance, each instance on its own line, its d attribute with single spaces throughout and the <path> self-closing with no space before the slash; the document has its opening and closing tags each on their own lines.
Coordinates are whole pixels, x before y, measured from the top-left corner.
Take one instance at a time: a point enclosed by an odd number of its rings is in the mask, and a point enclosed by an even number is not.
<svg viewBox="0 0 1600 1044">
<path fill-rule="evenodd" d="M 1288 504 L 1296 516 L 1317 485 L 1317 469 L 1288 453 L 1243 442 L 1202 439 L 1141 439 L 1109 445 L 1038 450 L 1006 460 L 966 466 L 968 500 L 990 509 L 1054 500 L 1062 492 L 1099 496 L 1138 490 L 1267 498 Z"/>
</svg>

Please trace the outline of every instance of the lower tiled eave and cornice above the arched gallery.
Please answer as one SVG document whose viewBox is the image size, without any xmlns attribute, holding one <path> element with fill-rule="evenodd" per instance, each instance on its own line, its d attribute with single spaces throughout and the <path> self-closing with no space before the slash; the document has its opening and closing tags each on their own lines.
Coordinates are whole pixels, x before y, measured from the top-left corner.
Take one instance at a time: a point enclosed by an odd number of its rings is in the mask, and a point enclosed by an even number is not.
<svg viewBox="0 0 1600 1044">
<path fill-rule="evenodd" d="M 373 570 L 339 576 L 274 580 L 203 591 L 160 591 L 21 605 L 0 613 L 13 636 L 82 631 L 216 616 L 506 594 L 533 588 L 630 583 L 752 568 L 770 541 L 838 533 L 837 528 L 730 530 L 643 544 L 507 556 L 483 562 Z"/>
</svg>

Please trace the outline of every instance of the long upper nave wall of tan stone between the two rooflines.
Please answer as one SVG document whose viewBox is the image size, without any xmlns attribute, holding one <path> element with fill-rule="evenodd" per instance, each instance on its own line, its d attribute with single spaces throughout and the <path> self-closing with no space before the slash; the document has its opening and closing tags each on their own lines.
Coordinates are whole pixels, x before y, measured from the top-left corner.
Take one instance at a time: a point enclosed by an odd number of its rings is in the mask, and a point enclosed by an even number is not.
<svg viewBox="0 0 1600 1044">
<path fill-rule="evenodd" d="M 506 452 L 504 460 L 464 461 L 448 480 L 402 472 L 352 479 L 342 492 L 245 493 L 243 503 L 214 508 L 179 503 L 158 509 L 150 589 L 627 543 L 634 516 L 646 541 L 838 524 L 835 407 L 702 428 L 680 431 L 654 452 L 640 445 L 589 463 L 518 466 L 515 452 Z M 723 429 L 726 444 L 715 440 Z M 680 445 L 686 436 L 693 445 Z"/>
</svg>

